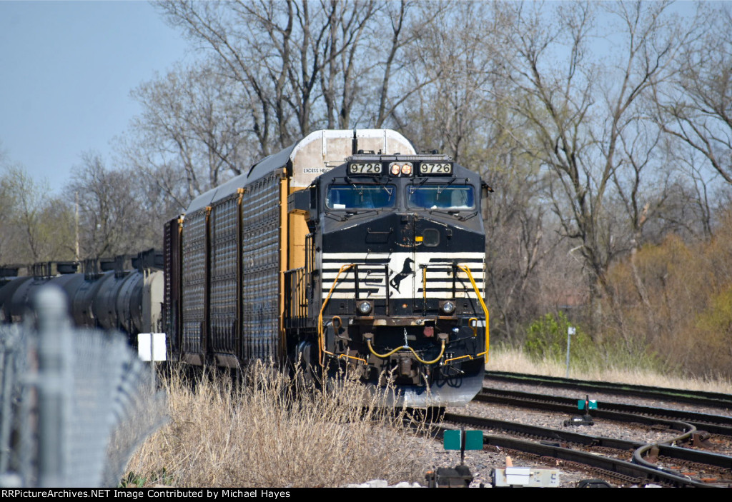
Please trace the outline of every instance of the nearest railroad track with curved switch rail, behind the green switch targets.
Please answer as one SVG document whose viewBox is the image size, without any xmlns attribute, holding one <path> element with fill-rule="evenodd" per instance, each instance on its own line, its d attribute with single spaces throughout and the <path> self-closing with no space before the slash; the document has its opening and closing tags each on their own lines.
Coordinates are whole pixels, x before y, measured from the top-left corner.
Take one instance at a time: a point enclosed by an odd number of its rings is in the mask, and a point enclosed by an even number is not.
<svg viewBox="0 0 732 502">
<path fill-rule="evenodd" d="M 638 441 L 602 438 L 573 433 L 567 430 L 550 429 L 533 425 L 518 424 L 496 419 L 471 417 L 459 414 L 446 413 L 446 422 L 479 427 L 483 430 L 502 430 L 520 436 L 527 436 L 541 442 L 526 441 L 504 436 L 484 436 L 484 445 L 503 449 L 512 449 L 524 455 L 538 455 L 546 461 L 561 461 L 574 463 L 591 468 L 600 476 L 615 479 L 621 483 L 660 483 L 671 487 L 719 487 L 729 486 L 732 483 L 732 457 L 717 455 L 708 452 L 679 448 L 667 444 L 649 445 Z M 687 430 L 677 438 L 692 433 L 694 428 Z M 671 440 L 673 441 L 673 440 Z M 577 449 L 589 449 L 583 451 Z M 653 449 L 655 460 L 661 459 L 665 467 L 644 455 Z M 597 450 L 611 455 L 597 455 Z M 631 457 L 633 462 L 621 457 Z M 671 466 L 670 466 L 671 465 Z M 711 468 L 711 472 L 710 472 Z M 679 471 L 687 475 L 676 474 Z M 690 476 L 695 476 L 693 479 Z"/>
</svg>

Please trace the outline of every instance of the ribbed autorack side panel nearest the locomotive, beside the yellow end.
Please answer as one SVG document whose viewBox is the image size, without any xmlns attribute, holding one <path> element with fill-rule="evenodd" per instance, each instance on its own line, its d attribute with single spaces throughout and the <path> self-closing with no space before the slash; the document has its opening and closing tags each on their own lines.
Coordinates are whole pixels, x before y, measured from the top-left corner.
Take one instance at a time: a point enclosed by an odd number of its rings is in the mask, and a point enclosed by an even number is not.
<svg viewBox="0 0 732 502">
<path fill-rule="evenodd" d="M 242 360 L 277 359 L 280 326 L 281 170 L 242 198 Z"/>
</svg>

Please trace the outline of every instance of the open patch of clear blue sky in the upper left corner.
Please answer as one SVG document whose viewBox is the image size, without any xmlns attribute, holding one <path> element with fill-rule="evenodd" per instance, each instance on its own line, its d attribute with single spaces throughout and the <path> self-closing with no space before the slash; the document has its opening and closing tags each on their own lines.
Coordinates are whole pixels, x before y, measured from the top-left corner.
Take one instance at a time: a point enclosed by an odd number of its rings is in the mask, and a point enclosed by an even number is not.
<svg viewBox="0 0 732 502">
<path fill-rule="evenodd" d="M 53 191 L 83 151 L 111 165 L 130 90 L 186 56 L 146 1 L 0 0 L 0 149 Z"/>
</svg>

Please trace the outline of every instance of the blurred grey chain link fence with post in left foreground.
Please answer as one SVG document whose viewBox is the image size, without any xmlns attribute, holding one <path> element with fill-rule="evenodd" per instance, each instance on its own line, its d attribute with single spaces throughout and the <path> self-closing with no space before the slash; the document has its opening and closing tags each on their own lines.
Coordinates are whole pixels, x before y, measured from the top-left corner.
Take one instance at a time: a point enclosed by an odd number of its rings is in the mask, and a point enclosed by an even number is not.
<svg viewBox="0 0 732 502">
<path fill-rule="evenodd" d="M 116 487 L 165 395 L 122 335 L 70 327 L 63 294 L 0 327 L 0 486 Z"/>
</svg>

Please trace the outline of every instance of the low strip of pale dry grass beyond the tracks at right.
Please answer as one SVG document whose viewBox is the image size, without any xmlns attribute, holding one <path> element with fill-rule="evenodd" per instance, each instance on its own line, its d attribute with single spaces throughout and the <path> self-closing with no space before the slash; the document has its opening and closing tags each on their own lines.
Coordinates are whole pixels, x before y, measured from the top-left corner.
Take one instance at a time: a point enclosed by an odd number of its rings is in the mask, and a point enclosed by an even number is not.
<svg viewBox="0 0 732 502">
<path fill-rule="evenodd" d="M 523 351 L 516 349 L 491 351 L 490 361 L 485 368 L 493 371 L 512 371 L 515 373 L 531 373 L 546 376 L 565 376 L 567 374 L 567 367 L 565 365 L 557 364 L 551 360 L 534 362 Z M 570 367 L 569 378 L 732 394 L 732 381 L 729 379 L 717 378 L 716 376 L 709 376 L 704 379 L 682 379 L 676 376 L 662 375 L 651 370 L 644 370 L 643 368 L 627 370 L 597 367 L 593 370 L 580 371 L 573 370 Z"/>
</svg>

